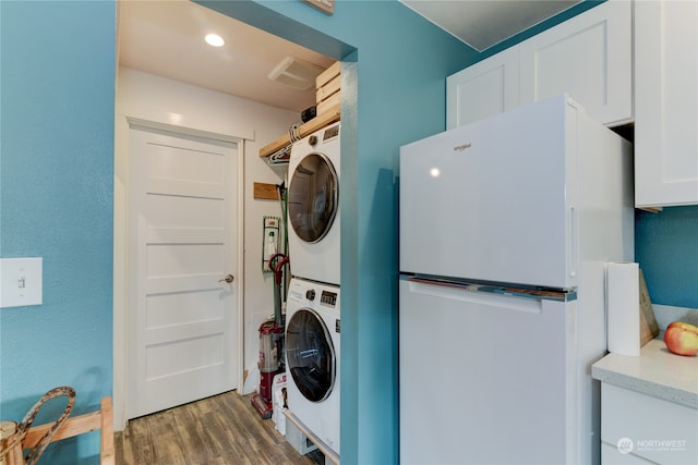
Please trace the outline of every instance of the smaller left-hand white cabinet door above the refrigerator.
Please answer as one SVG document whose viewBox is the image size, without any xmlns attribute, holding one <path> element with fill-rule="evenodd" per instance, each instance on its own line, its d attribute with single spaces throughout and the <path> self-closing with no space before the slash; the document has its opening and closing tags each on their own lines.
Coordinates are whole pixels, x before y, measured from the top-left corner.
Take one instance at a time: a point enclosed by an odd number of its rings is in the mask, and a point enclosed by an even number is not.
<svg viewBox="0 0 698 465">
<path fill-rule="evenodd" d="M 446 129 L 518 107 L 518 49 L 510 48 L 446 78 Z"/>
</svg>

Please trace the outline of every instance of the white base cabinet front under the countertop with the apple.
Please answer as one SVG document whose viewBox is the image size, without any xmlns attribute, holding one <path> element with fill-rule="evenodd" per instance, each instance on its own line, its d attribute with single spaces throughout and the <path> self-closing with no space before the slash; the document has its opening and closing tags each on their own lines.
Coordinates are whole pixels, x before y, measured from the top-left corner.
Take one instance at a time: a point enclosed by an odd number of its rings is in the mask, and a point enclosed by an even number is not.
<svg viewBox="0 0 698 465">
<path fill-rule="evenodd" d="M 698 464 L 698 409 L 601 383 L 601 463 Z"/>
</svg>

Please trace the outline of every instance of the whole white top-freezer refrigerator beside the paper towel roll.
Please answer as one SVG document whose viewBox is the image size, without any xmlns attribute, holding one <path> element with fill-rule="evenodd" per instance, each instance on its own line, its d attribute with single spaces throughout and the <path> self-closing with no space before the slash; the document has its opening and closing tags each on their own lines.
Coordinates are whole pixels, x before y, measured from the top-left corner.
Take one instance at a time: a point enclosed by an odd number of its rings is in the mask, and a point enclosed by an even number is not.
<svg viewBox="0 0 698 465">
<path fill-rule="evenodd" d="M 401 147 L 401 464 L 600 461 L 631 175 L 631 145 L 565 95 Z"/>
</svg>

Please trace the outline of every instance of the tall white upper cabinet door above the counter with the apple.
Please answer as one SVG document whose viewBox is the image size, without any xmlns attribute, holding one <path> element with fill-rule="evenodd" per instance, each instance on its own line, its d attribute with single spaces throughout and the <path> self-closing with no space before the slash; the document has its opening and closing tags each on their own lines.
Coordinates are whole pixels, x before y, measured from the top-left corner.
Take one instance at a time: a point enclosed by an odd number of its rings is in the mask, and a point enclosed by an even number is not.
<svg viewBox="0 0 698 465">
<path fill-rule="evenodd" d="M 636 2 L 635 40 L 635 204 L 698 204 L 698 2 Z"/>
</svg>

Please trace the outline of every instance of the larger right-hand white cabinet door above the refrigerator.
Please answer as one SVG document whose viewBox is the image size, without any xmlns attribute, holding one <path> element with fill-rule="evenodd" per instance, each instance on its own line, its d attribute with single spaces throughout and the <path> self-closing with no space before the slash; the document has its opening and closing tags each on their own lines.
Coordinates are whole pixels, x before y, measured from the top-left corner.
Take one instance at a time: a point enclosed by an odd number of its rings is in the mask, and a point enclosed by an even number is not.
<svg viewBox="0 0 698 465">
<path fill-rule="evenodd" d="M 567 93 L 594 120 L 633 120 L 631 2 L 610 0 L 520 44 L 520 102 Z"/>
</svg>

